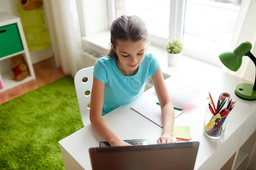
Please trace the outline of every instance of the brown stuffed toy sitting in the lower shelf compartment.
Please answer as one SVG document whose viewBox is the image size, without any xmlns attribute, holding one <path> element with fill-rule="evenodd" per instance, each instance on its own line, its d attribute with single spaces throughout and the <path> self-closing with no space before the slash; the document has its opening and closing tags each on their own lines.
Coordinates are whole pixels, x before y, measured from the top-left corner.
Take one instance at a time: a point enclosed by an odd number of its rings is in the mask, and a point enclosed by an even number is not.
<svg viewBox="0 0 256 170">
<path fill-rule="evenodd" d="M 23 59 L 22 54 L 12 57 L 11 59 L 12 65 L 12 79 L 17 81 L 25 79 L 28 74 L 28 67 Z"/>
</svg>

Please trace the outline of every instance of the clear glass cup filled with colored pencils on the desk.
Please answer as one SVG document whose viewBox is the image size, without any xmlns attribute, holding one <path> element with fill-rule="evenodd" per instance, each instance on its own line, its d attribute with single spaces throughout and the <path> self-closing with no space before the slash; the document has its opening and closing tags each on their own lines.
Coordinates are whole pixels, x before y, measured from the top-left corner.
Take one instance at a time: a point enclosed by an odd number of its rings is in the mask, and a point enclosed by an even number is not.
<svg viewBox="0 0 256 170">
<path fill-rule="evenodd" d="M 227 117 L 233 110 L 236 102 L 230 98 L 218 99 L 213 102 L 211 94 L 209 93 L 211 102 L 209 102 L 204 119 L 204 135 L 210 139 L 220 139 L 226 129 Z"/>
</svg>

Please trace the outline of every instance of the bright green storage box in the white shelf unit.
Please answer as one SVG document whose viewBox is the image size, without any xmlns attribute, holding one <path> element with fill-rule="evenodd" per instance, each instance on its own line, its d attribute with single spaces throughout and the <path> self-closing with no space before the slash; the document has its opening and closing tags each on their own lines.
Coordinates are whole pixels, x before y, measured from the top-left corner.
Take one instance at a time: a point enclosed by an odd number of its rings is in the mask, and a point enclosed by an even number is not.
<svg viewBox="0 0 256 170">
<path fill-rule="evenodd" d="M 23 51 L 17 24 L 0 27 L 0 58 Z"/>
</svg>

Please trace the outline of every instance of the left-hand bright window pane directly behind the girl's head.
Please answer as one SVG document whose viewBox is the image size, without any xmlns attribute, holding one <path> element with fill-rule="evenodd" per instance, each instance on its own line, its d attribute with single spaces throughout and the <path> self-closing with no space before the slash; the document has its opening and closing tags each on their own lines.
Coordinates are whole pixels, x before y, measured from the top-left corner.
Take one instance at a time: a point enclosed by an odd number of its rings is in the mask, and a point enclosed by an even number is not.
<svg viewBox="0 0 256 170">
<path fill-rule="evenodd" d="M 168 38 L 170 0 L 116 0 L 116 17 L 123 14 L 139 16 L 150 34 Z"/>
</svg>

